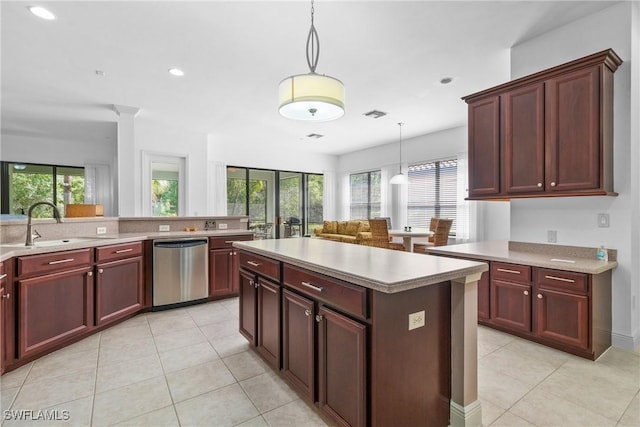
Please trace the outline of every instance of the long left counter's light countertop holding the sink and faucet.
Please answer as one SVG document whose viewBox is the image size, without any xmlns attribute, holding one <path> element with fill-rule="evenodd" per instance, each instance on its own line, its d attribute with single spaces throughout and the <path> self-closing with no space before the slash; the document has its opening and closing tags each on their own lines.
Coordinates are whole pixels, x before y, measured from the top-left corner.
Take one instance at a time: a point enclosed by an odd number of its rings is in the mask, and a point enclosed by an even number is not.
<svg viewBox="0 0 640 427">
<path fill-rule="evenodd" d="M 96 236 L 70 236 L 68 239 L 36 240 L 34 246 L 24 246 L 24 242 L 0 243 L 0 262 L 17 256 L 37 255 L 58 251 L 92 248 L 97 246 L 116 245 L 143 240 L 183 239 L 198 237 L 216 237 L 229 235 L 253 234 L 250 230 L 202 230 L 202 231 L 155 231 L 140 233 L 118 233 Z M 64 242 L 69 240 L 69 242 Z"/>
</svg>

